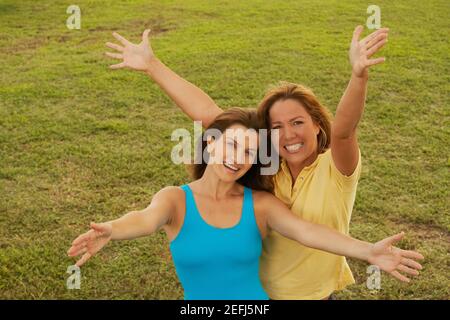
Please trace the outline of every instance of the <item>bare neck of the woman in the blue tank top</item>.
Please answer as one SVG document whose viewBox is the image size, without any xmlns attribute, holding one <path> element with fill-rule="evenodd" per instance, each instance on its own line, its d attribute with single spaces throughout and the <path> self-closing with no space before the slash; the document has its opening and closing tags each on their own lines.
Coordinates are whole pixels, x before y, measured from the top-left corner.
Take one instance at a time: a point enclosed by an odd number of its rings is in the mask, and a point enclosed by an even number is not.
<svg viewBox="0 0 450 320">
<path fill-rule="evenodd" d="M 214 200 L 224 199 L 231 194 L 242 193 L 242 186 L 236 181 L 223 181 L 214 172 L 211 165 L 206 166 L 203 176 L 192 182 L 200 194 L 208 195 Z"/>
</svg>

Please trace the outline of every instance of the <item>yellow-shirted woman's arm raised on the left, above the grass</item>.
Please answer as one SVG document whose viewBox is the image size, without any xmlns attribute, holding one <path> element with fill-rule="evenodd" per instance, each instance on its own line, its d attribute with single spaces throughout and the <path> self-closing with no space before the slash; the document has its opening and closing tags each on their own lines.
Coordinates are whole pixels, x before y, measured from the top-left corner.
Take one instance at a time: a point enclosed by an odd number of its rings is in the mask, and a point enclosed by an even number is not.
<svg viewBox="0 0 450 320">
<path fill-rule="evenodd" d="M 222 113 L 222 109 L 204 91 L 181 78 L 155 56 L 149 43 L 149 33 L 149 29 L 144 31 L 139 44 L 131 43 L 118 33 L 113 33 L 121 45 L 107 42 L 106 45 L 117 52 L 106 52 L 106 55 L 122 62 L 110 68 L 129 68 L 146 73 L 192 120 L 202 121 L 204 127 L 209 126 L 216 116 Z"/>
</svg>

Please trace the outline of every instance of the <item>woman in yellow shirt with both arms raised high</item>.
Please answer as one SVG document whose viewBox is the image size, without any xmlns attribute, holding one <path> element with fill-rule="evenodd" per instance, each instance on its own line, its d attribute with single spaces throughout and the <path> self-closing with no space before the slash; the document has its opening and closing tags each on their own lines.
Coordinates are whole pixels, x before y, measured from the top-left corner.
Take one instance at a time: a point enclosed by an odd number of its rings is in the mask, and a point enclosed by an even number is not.
<svg viewBox="0 0 450 320">
<path fill-rule="evenodd" d="M 384 62 L 384 58 L 371 57 L 388 35 L 383 28 L 360 40 L 362 31 L 358 26 L 353 33 L 352 75 L 333 123 L 313 92 L 297 84 L 272 89 L 258 106 L 266 127 L 279 132 L 282 161 L 274 177 L 275 195 L 301 218 L 344 234 L 348 234 L 361 172 L 356 129 L 365 104 L 368 68 Z M 119 53 L 106 54 L 122 62 L 111 68 L 145 72 L 183 112 L 208 127 L 222 109 L 156 58 L 149 32 L 144 31 L 139 44 L 114 33 L 121 45 L 107 46 Z M 405 280 L 398 272 L 393 275 Z M 344 257 L 303 247 L 274 231 L 264 240 L 260 277 L 272 299 L 327 299 L 335 290 L 354 283 Z"/>
</svg>

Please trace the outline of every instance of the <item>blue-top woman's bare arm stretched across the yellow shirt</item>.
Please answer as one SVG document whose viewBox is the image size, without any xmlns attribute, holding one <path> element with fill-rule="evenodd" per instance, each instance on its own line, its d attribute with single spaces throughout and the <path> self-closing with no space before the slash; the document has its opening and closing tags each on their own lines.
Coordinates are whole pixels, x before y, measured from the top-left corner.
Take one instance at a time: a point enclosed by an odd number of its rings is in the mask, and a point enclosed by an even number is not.
<svg viewBox="0 0 450 320">
<path fill-rule="evenodd" d="M 302 245 L 336 255 L 357 258 L 380 267 L 401 281 L 409 279 L 399 271 L 418 275 L 422 266 L 413 259 L 423 259 L 415 251 L 402 250 L 392 245 L 400 241 L 403 233 L 385 238 L 375 244 L 339 233 L 327 226 L 307 222 L 295 216 L 275 196 L 263 193 L 255 201 L 255 210 L 266 217 L 266 226 Z"/>
</svg>

